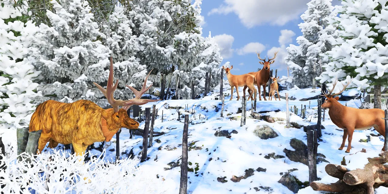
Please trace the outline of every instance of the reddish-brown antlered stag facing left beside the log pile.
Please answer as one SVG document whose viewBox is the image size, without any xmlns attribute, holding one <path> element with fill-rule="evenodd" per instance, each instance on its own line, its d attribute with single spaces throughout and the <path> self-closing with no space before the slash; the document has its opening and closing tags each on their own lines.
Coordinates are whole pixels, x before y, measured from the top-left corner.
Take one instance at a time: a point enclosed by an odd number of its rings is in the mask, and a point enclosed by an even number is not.
<svg viewBox="0 0 388 194">
<path fill-rule="evenodd" d="M 345 152 L 350 152 L 350 149 L 352 149 L 351 143 L 354 130 L 365 130 L 374 127 L 377 132 L 385 137 L 385 120 L 382 119 L 385 117 L 384 111 L 381 109 L 356 109 L 343 106 L 338 102 L 339 97 L 334 96 L 345 91 L 345 88 L 352 80 L 348 81 L 346 85 L 342 84 L 343 88 L 340 92 L 332 94 L 337 81 L 338 80 L 333 83 L 333 88 L 331 90 L 327 93 L 323 93 L 324 95 L 322 96 L 325 96 L 326 100 L 321 107 L 328 108 L 331 121 L 339 128 L 343 129 L 342 144 L 339 150 L 342 150 L 345 147 L 345 140 L 349 135 L 348 148 Z M 385 151 L 384 147 L 382 150 Z"/>
</svg>

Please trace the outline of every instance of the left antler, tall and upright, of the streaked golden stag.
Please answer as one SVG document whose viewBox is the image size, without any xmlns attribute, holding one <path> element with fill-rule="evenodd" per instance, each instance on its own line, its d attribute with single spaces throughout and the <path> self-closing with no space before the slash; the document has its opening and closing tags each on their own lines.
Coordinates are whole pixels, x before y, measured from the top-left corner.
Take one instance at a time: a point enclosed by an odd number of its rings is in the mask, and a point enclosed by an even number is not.
<svg viewBox="0 0 388 194">
<path fill-rule="evenodd" d="M 116 83 L 113 85 L 113 59 L 111 57 L 111 65 L 109 67 L 109 77 L 108 77 L 108 82 L 106 84 L 106 89 L 101 87 L 99 84 L 93 82 L 94 85 L 99 88 L 108 100 L 109 104 L 113 107 L 113 111 L 117 113 L 119 111 L 119 106 L 123 106 L 123 103 L 128 102 L 128 100 L 116 100 L 113 97 L 114 91 L 117 89 L 119 80 L 116 80 Z"/>
</svg>

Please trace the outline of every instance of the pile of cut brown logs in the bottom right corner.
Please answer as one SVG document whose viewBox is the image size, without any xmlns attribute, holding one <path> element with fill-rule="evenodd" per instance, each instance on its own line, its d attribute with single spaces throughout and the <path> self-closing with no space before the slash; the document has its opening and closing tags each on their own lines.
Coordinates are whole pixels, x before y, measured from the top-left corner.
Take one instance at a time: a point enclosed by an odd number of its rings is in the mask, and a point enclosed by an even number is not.
<svg viewBox="0 0 388 194">
<path fill-rule="evenodd" d="M 361 152 L 366 152 L 363 149 Z M 348 170 L 345 166 L 328 164 L 325 171 L 328 175 L 339 178 L 338 182 L 323 184 L 314 181 L 310 184 L 314 191 L 350 192 L 364 188 L 366 194 L 374 194 L 374 188 L 388 184 L 388 151 L 381 152 L 379 157 L 368 158 L 363 169 Z"/>
</svg>

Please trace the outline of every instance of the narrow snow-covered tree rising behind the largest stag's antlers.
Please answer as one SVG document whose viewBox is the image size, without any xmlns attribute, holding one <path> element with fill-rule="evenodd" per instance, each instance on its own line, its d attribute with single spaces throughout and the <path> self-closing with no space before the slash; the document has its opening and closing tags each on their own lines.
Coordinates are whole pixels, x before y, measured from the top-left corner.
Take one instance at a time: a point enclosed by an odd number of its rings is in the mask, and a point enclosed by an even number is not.
<svg viewBox="0 0 388 194">
<path fill-rule="evenodd" d="M 114 11 L 109 16 L 109 28 L 105 31 L 107 39 L 102 40 L 104 45 L 111 50 L 114 62 L 114 77 L 119 79 L 116 93 L 120 99 L 132 99 L 132 91 L 125 87 L 130 85 L 141 88 L 144 77 L 147 75 L 147 66 L 139 64 L 135 55 L 140 51 L 136 35 L 132 34 L 134 24 L 124 14 L 125 7 L 114 5 Z"/>
</svg>

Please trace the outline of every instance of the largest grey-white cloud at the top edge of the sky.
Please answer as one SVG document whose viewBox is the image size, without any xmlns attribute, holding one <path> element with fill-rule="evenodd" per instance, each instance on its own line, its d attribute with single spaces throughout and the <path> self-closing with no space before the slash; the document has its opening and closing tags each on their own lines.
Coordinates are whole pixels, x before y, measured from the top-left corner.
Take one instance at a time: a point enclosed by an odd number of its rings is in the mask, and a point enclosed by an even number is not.
<svg viewBox="0 0 388 194">
<path fill-rule="evenodd" d="M 208 15 L 233 12 L 248 28 L 264 23 L 282 26 L 299 19 L 307 10 L 308 2 L 310 0 L 224 0 L 224 4 L 212 9 Z"/>
</svg>

